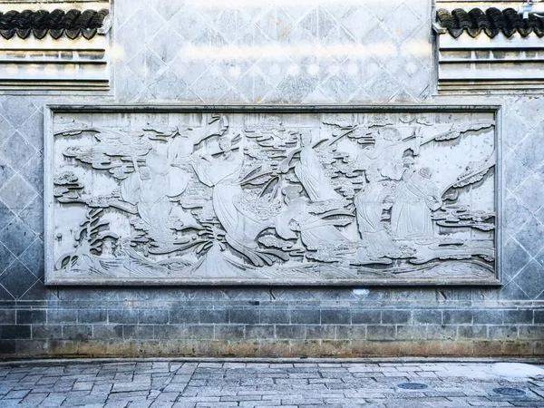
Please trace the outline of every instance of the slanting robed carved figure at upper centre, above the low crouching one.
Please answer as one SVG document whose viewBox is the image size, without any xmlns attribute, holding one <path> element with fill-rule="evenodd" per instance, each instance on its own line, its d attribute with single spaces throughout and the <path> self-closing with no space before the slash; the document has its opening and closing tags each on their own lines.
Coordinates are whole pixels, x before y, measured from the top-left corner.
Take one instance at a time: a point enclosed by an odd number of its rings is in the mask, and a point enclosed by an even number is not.
<svg viewBox="0 0 544 408">
<path fill-rule="evenodd" d="M 300 143 L 302 147 L 300 162 L 295 166 L 295 174 L 304 186 L 308 197 L 312 201 L 344 199 L 335 191 L 331 181 L 325 175 L 325 170 L 312 147 L 312 133 L 310 131 L 302 133 Z"/>
</svg>

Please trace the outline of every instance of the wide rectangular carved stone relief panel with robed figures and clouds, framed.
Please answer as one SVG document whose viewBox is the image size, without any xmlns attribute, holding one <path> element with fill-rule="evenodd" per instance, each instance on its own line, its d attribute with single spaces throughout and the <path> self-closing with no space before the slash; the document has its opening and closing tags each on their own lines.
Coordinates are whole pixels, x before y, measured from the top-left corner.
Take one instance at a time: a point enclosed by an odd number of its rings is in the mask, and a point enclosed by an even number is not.
<svg viewBox="0 0 544 408">
<path fill-rule="evenodd" d="M 497 284 L 496 110 L 53 107 L 49 284 Z"/>
</svg>

